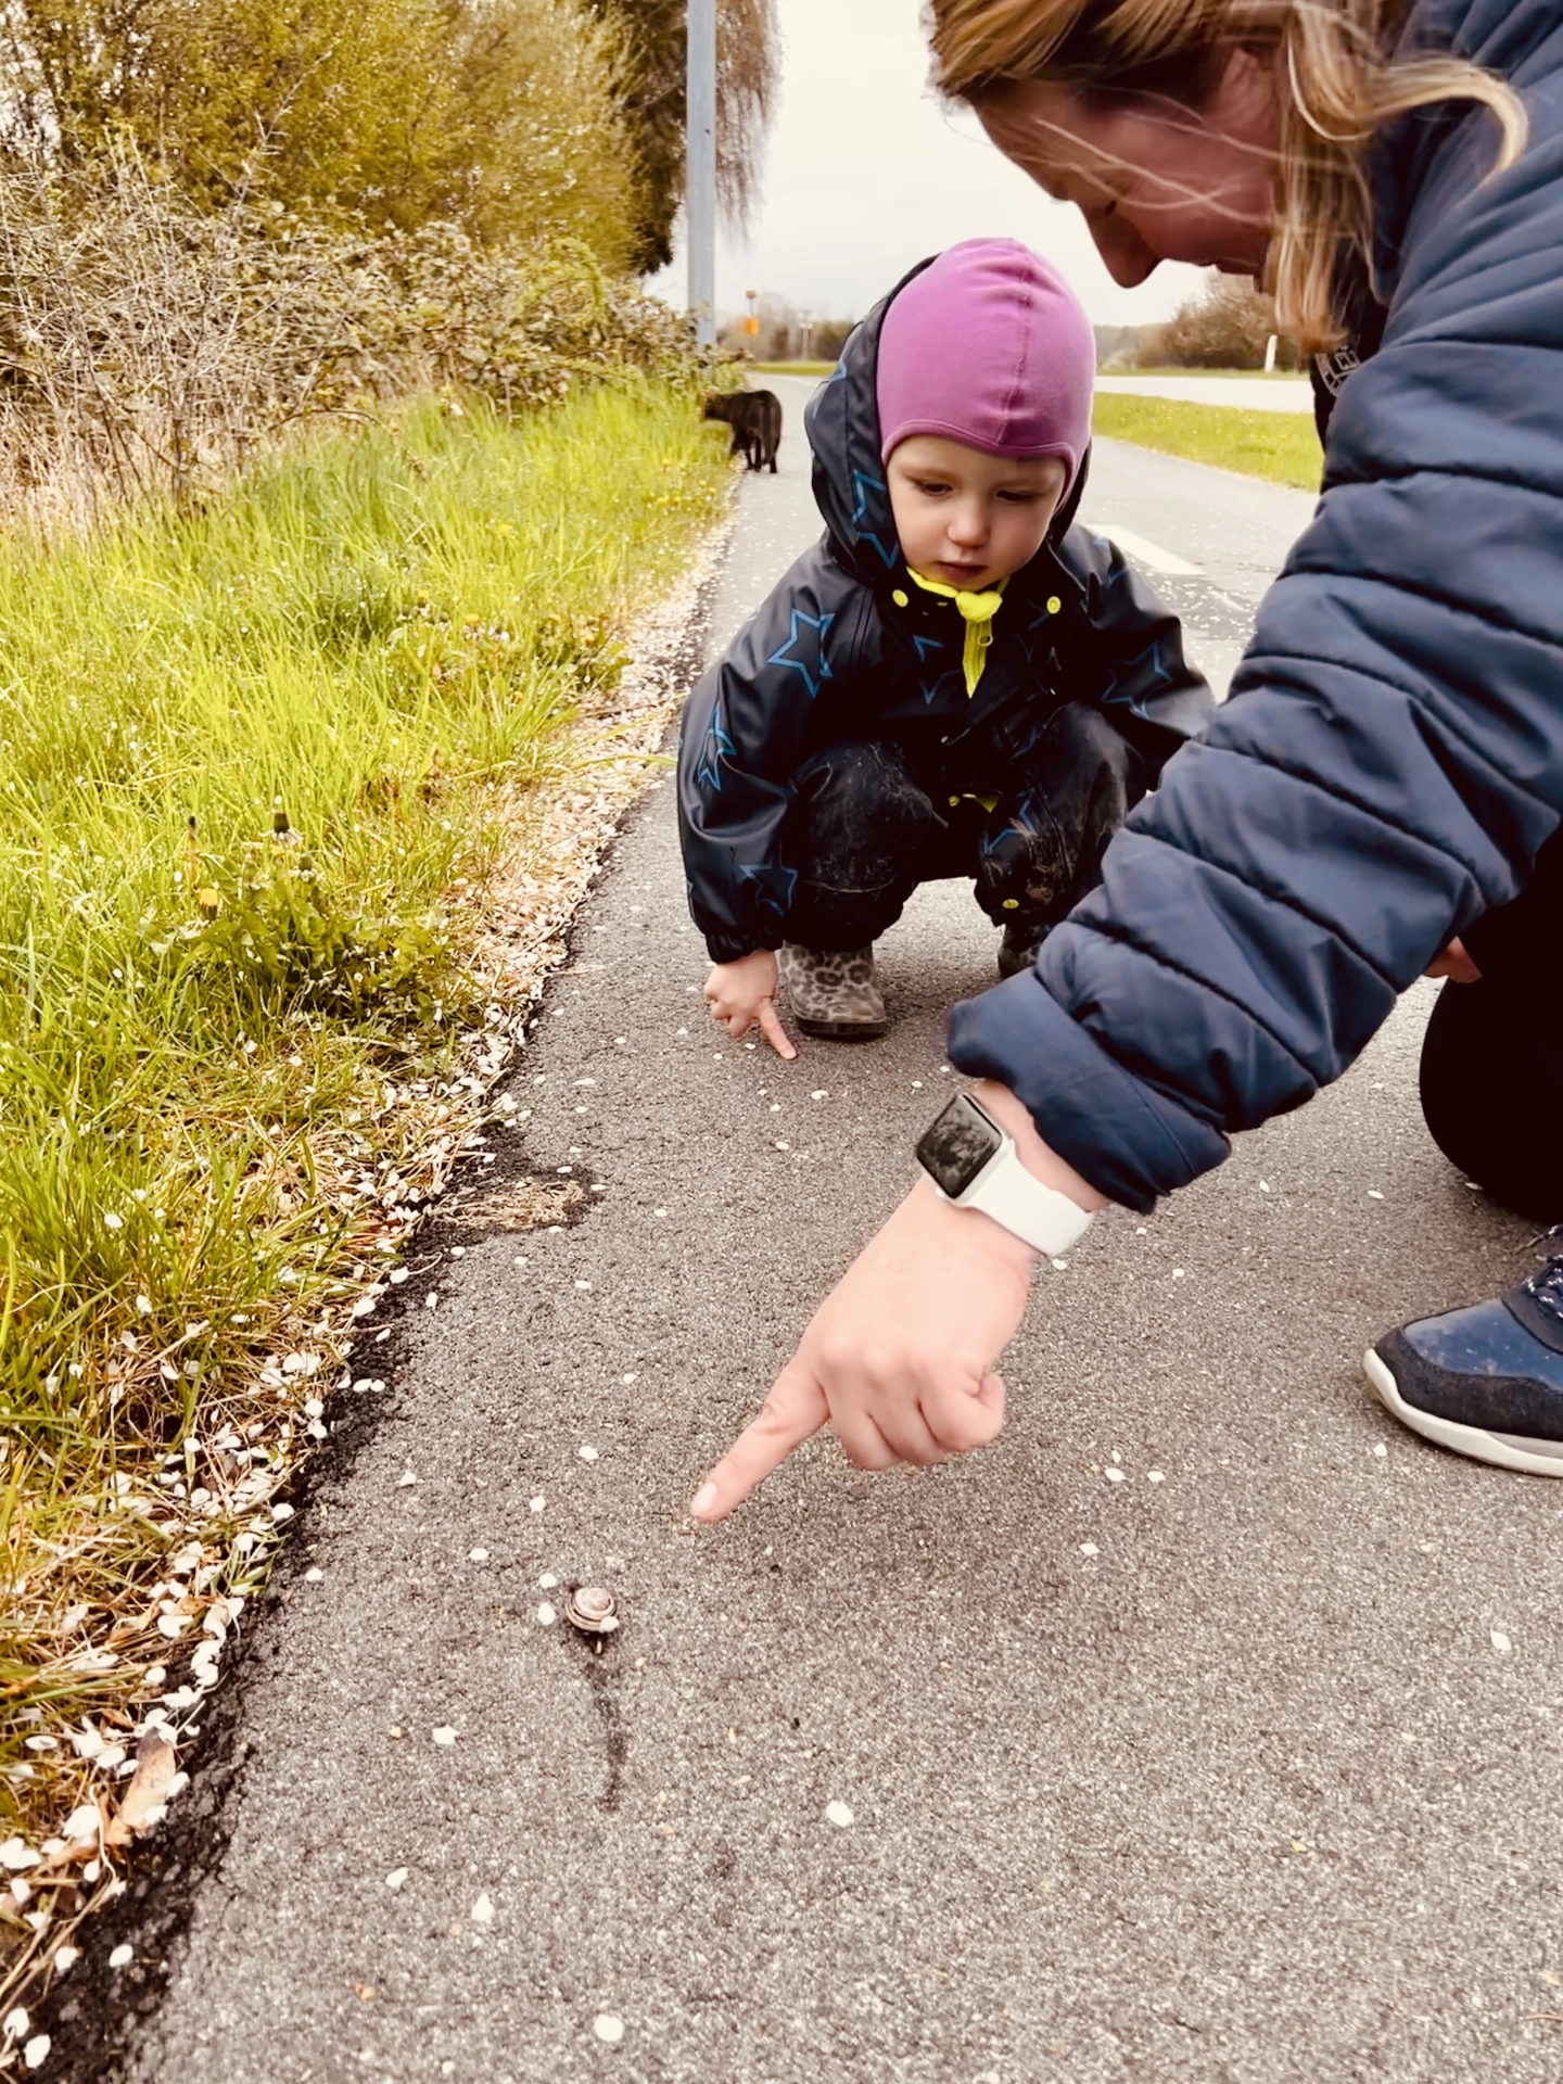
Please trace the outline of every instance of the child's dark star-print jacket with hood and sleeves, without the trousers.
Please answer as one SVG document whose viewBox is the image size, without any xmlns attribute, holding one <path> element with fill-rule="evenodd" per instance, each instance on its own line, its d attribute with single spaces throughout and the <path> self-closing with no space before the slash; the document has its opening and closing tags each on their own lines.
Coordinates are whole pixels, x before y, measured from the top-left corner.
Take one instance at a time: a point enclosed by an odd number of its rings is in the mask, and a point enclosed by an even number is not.
<svg viewBox="0 0 1563 2084">
<path fill-rule="evenodd" d="M 1132 748 L 1138 794 L 1211 713 L 1177 617 L 1109 542 L 1071 527 L 1084 471 L 1048 540 L 1004 588 L 967 696 L 965 625 L 952 602 L 907 575 L 879 463 L 879 325 L 900 288 L 854 327 L 809 402 L 825 534 L 684 711 L 684 871 L 717 963 L 782 946 L 798 879 L 792 777 L 823 746 L 886 738 L 932 761 L 952 790 L 1002 790 L 1040 725 L 1065 702 L 1088 702 Z"/>
</svg>

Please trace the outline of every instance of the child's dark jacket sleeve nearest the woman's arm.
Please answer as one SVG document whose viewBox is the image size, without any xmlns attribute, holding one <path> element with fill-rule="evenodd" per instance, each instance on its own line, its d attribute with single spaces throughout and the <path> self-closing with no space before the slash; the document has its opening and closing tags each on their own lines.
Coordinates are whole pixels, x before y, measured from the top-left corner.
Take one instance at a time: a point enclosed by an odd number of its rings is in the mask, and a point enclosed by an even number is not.
<svg viewBox="0 0 1563 2084">
<path fill-rule="evenodd" d="M 1059 561 L 1082 586 L 1084 617 L 1059 661 L 1061 692 L 1100 709 L 1127 738 L 1155 784 L 1173 752 L 1213 711 L 1209 684 L 1184 659 L 1171 609 L 1105 536 L 1071 527 Z"/>
</svg>

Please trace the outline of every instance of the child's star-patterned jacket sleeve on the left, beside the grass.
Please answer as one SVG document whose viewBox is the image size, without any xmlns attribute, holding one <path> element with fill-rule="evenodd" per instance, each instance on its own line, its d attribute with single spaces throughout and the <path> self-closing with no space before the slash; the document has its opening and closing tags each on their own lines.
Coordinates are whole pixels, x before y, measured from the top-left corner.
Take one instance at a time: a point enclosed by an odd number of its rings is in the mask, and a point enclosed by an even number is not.
<svg viewBox="0 0 1563 2084">
<path fill-rule="evenodd" d="M 679 844 L 713 963 L 779 948 L 796 871 L 782 825 L 825 681 L 854 669 L 863 588 L 807 550 L 690 696 L 679 727 Z"/>
</svg>

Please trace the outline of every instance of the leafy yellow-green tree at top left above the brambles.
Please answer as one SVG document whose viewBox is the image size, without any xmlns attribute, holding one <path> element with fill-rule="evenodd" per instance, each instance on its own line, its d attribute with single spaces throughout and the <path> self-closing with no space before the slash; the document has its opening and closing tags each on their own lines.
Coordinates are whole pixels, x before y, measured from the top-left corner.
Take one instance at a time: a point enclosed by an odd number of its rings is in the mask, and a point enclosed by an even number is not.
<svg viewBox="0 0 1563 2084">
<path fill-rule="evenodd" d="M 579 0 L 13 0 L 4 35 L 13 150 L 129 133 L 208 206 L 631 256 L 623 46 Z"/>
</svg>

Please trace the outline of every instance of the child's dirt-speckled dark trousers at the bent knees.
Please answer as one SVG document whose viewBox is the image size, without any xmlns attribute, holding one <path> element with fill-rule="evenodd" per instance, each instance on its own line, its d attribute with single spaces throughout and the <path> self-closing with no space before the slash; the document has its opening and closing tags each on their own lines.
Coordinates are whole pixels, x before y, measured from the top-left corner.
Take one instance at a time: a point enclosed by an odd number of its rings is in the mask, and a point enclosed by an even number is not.
<svg viewBox="0 0 1563 2084">
<path fill-rule="evenodd" d="M 1082 702 L 1059 709 L 996 775 L 919 769 L 888 740 L 825 746 L 794 777 L 784 846 L 798 884 L 786 936 L 865 948 L 919 884 L 969 875 L 996 925 L 1040 940 L 1100 882 L 1107 842 L 1140 794 L 1136 769 L 1123 738 Z M 992 811 L 967 790 L 994 796 Z"/>
</svg>

